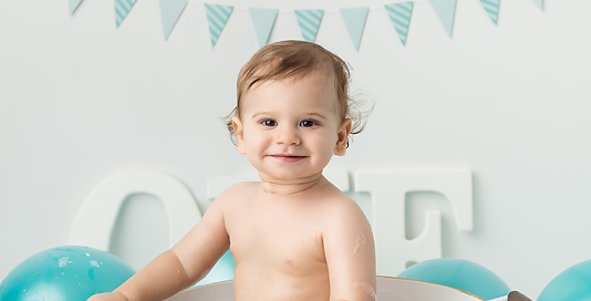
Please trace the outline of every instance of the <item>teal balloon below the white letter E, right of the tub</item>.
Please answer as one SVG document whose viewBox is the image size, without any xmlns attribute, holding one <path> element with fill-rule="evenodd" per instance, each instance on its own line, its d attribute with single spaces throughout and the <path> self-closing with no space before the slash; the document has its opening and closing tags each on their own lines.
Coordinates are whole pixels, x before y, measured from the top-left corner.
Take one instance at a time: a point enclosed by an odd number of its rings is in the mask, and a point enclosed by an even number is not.
<svg viewBox="0 0 591 301">
<path fill-rule="evenodd" d="M 416 263 L 398 274 L 398 278 L 443 284 L 485 300 L 511 292 L 507 283 L 487 268 L 456 258 L 438 258 Z"/>
</svg>

